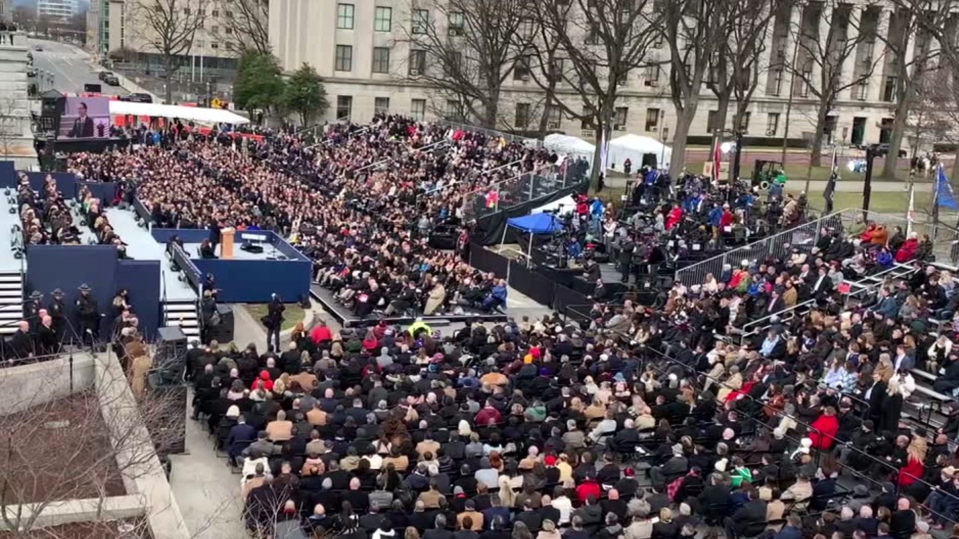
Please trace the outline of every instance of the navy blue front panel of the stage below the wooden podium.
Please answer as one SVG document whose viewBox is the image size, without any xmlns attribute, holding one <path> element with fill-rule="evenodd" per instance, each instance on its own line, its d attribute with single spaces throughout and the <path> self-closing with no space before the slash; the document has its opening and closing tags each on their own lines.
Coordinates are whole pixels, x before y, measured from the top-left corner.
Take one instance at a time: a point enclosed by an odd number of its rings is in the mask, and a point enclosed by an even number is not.
<svg viewBox="0 0 959 539">
<path fill-rule="evenodd" d="M 273 293 L 284 301 L 299 301 L 310 293 L 313 263 L 301 260 L 193 259 L 197 268 L 213 273 L 222 303 L 261 303 Z"/>
</svg>

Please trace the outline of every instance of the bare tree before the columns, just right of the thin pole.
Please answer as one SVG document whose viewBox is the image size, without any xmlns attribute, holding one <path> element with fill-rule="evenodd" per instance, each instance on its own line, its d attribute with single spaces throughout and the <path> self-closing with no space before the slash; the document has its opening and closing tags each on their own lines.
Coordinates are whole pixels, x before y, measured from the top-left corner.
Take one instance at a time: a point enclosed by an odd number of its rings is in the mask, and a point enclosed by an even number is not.
<svg viewBox="0 0 959 539">
<path fill-rule="evenodd" d="M 867 12 L 868 6 L 860 8 L 838 0 L 812 2 L 805 5 L 799 22 L 790 28 L 797 50 L 793 55 L 795 62 L 784 59 L 784 70 L 795 82 L 788 90 L 792 97 L 808 97 L 816 102 L 810 167 L 819 166 L 822 161 L 823 139 L 833 105 L 844 93 L 867 82 L 882 59 L 881 54 L 860 54 L 860 44 L 877 39 L 878 18 L 864 21 Z M 852 65 L 856 59 L 859 61 Z M 844 74 L 844 67 L 850 66 L 854 68 L 852 73 Z"/>
</svg>

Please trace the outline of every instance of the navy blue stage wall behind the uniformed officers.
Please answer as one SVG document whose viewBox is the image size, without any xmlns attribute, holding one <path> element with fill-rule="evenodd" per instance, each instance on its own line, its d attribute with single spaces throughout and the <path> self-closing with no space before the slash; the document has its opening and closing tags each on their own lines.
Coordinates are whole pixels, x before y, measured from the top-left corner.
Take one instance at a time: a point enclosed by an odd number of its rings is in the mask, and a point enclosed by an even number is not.
<svg viewBox="0 0 959 539">
<path fill-rule="evenodd" d="M 100 337 L 109 339 L 110 327 L 116 314 L 113 312 L 113 295 L 116 284 L 117 251 L 113 246 L 29 246 L 27 248 L 27 294 L 39 291 L 49 300 L 54 289 L 63 291 L 66 316 L 79 333 L 80 318 L 77 298 L 80 285 L 86 284 L 100 306 Z M 67 270 L 68 269 L 68 270 Z M 153 277 L 159 284 L 159 276 Z M 155 301 L 155 299 L 154 299 Z M 70 328 L 67 327 L 67 335 Z"/>
</svg>

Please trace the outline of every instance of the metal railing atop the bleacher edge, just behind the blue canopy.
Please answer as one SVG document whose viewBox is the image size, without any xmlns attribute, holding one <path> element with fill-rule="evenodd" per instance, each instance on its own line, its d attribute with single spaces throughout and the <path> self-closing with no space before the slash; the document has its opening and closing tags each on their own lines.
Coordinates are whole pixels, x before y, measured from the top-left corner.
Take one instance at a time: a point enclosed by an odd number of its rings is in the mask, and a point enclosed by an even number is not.
<svg viewBox="0 0 959 539">
<path fill-rule="evenodd" d="M 463 196 L 463 217 L 473 221 L 530 200 L 548 197 L 586 179 L 571 162 L 543 165 Z"/>
</svg>

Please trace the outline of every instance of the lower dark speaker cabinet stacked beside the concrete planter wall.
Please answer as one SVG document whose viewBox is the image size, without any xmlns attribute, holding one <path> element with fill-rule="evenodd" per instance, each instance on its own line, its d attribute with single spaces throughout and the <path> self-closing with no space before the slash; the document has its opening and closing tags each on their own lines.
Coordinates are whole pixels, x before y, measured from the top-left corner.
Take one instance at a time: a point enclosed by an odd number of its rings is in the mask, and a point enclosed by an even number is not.
<svg viewBox="0 0 959 539">
<path fill-rule="evenodd" d="M 185 453 L 186 385 L 162 372 L 153 372 L 147 376 L 147 391 L 155 401 L 146 423 L 157 455 Z"/>
</svg>

